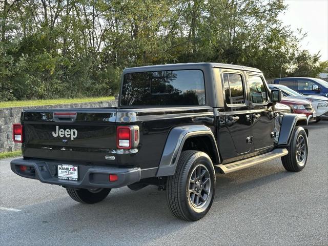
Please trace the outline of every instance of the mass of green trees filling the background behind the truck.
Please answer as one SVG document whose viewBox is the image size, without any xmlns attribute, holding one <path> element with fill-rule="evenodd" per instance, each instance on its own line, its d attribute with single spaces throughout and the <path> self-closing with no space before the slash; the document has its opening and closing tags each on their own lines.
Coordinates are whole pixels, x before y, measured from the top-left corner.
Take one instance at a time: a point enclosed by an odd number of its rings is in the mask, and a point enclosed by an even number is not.
<svg viewBox="0 0 328 246">
<path fill-rule="evenodd" d="M 282 0 L 0 2 L 0 100 L 109 96 L 122 69 L 212 61 L 268 78 L 326 68 L 282 25 Z"/>
</svg>

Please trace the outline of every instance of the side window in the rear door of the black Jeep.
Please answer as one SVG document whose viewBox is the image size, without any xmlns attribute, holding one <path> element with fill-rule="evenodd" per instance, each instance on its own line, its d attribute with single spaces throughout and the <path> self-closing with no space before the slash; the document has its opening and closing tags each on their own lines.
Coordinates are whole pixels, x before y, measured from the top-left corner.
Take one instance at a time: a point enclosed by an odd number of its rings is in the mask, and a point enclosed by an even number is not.
<svg viewBox="0 0 328 246">
<path fill-rule="evenodd" d="M 244 89 L 242 76 L 237 73 L 223 73 L 224 94 L 229 105 L 244 104 Z"/>
</svg>

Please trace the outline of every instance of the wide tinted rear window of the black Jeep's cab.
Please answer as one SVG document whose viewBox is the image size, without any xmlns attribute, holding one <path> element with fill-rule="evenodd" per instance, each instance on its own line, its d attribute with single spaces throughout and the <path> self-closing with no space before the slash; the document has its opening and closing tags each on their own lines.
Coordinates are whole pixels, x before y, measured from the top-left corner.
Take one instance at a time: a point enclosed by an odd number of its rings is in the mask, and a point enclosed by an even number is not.
<svg viewBox="0 0 328 246">
<path fill-rule="evenodd" d="M 124 75 L 121 106 L 205 105 L 201 70 L 172 70 Z"/>
</svg>

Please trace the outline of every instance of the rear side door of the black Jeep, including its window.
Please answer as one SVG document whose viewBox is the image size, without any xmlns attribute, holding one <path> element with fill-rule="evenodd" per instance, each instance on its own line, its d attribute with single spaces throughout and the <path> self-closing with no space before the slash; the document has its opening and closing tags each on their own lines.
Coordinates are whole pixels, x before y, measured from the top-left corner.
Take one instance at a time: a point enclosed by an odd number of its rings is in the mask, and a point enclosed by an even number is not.
<svg viewBox="0 0 328 246">
<path fill-rule="evenodd" d="M 244 73 L 224 70 L 221 73 L 224 94 L 224 126 L 220 128 L 219 146 L 224 162 L 242 158 L 251 150 L 251 119 L 246 97 Z M 222 125 L 222 122 L 221 122 Z"/>
</svg>

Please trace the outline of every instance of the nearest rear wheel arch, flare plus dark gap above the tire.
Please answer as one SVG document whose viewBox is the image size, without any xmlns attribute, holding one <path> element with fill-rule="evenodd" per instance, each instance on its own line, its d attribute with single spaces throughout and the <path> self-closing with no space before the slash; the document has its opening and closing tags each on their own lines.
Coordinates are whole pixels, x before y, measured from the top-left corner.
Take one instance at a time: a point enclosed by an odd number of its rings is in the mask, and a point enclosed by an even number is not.
<svg viewBox="0 0 328 246">
<path fill-rule="evenodd" d="M 162 152 L 157 177 L 175 174 L 180 154 L 184 150 L 207 153 L 213 162 L 220 163 L 219 150 L 210 128 L 204 125 L 187 125 L 173 128 Z"/>
</svg>

